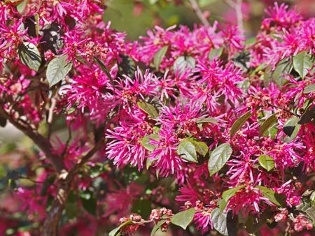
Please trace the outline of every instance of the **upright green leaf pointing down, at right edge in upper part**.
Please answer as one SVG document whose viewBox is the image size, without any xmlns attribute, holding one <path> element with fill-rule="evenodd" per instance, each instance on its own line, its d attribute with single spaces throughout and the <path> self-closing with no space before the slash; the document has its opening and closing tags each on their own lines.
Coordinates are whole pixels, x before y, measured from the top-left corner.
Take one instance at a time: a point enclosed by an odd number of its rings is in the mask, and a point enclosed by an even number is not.
<svg viewBox="0 0 315 236">
<path fill-rule="evenodd" d="M 311 57 L 311 54 L 303 51 L 293 56 L 293 68 L 302 79 L 313 66 L 314 59 Z"/>
</svg>

